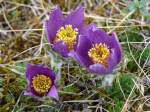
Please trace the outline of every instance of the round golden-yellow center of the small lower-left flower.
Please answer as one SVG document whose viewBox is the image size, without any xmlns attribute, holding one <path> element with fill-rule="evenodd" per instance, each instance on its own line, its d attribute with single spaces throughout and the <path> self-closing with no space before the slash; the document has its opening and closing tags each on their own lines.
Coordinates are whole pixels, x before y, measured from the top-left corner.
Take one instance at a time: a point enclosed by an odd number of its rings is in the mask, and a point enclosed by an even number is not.
<svg viewBox="0 0 150 112">
<path fill-rule="evenodd" d="M 32 85 L 37 93 L 46 94 L 52 86 L 52 80 L 48 76 L 37 75 L 33 77 Z"/>
</svg>

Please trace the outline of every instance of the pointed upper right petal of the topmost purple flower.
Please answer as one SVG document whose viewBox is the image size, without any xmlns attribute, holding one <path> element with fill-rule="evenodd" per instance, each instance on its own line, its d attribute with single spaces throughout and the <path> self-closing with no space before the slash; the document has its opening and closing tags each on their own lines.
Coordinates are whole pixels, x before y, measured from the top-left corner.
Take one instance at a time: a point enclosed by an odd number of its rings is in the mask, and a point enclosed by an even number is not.
<svg viewBox="0 0 150 112">
<path fill-rule="evenodd" d="M 74 28 L 80 29 L 80 27 L 84 24 L 84 8 L 80 7 L 76 11 L 71 12 L 67 16 L 67 18 L 65 20 L 65 24 L 66 25 L 70 24 Z"/>
</svg>

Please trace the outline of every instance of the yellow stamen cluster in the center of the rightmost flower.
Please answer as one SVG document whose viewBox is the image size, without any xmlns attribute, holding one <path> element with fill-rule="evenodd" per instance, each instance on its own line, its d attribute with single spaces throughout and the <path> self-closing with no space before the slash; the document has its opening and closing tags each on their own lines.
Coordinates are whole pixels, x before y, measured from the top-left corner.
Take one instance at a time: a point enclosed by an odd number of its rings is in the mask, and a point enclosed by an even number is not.
<svg viewBox="0 0 150 112">
<path fill-rule="evenodd" d="M 95 44 L 94 47 L 88 51 L 88 55 L 94 63 L 103 64 L 105 67 L 108 66 L 110 51 L 105 44 Z"/>
</svg>

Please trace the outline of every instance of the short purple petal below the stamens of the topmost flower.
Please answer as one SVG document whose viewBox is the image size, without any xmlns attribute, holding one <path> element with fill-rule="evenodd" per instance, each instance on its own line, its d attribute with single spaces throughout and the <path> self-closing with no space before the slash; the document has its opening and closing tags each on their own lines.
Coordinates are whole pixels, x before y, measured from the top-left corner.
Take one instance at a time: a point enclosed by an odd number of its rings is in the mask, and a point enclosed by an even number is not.
<svg viewBox="0 0 150 112">
<path fill-rule="evenodd" d="M 69 51 L 68 51 L 68 47 L 67 47 L 67 45 L 65 44 L 65 42 L 60 41 L 60 42 L 54 43 L 53 49 L 54 49 L 56 52 L 60 53 L 63 57 L 68 57 Z"/>
</svg>

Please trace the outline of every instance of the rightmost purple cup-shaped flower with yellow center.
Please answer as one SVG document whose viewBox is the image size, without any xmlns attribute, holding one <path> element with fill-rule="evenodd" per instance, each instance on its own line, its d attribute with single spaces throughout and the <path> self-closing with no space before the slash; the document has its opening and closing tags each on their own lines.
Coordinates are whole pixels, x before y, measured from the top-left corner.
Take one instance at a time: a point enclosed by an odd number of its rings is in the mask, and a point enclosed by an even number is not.
<svg viewBox="0 0 150 112">
<path fill-rule="evenodd" d="M 105 75 L 119 64 L 122 52 L 116 33 L 109 36 L 93 26 L 88 35 L 79 36 L 73 57 L 91 73 Z"/>
</svg>

